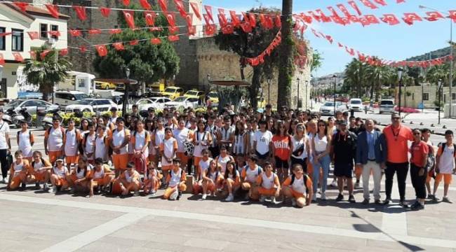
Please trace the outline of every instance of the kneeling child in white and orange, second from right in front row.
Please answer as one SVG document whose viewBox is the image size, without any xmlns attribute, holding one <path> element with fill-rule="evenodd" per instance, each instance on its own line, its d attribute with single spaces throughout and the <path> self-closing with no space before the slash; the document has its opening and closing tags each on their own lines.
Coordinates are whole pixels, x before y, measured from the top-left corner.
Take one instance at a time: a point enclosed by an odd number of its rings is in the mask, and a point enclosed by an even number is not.
<svg viewBox="0 0 456 252">
<path fill-rule="evenodd" d="M 280 195 L 279 176 L 272 172 L 270 162 L 264 162 L 264 172 L 258 176 L 257 184 L 260 185 L 258 193 L 260 194 L 260 202 L 264 202 L 266 197 L 271 197 L 271 202 L 276 203 L 276 197 Z"/>
</svg>

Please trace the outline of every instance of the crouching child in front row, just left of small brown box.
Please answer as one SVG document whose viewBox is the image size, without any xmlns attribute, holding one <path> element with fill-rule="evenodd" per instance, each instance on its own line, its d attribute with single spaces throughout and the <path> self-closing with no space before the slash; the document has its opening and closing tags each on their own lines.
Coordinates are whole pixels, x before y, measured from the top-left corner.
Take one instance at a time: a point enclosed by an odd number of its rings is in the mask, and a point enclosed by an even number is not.
<svg viewBox="0 0 456 252">
<path fill-rule="evenodd" d="M 186 180 L 185 171 L 180 168 L 180 160 L 175 158 L 173 160 L 173 169 L 166 177 L 168 188 L 166 188 L 165 193 L 163 193 L 163 199 L 179 200 L 182 191 L 187 190 L 187 186 L 185 185 Z"/>
</svg>

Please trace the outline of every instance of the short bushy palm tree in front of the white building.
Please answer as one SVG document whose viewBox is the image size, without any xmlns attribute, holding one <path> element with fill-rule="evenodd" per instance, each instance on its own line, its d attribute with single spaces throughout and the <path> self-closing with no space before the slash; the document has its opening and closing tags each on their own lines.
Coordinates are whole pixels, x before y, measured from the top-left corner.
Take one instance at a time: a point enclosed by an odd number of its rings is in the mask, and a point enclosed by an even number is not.
<svg viewBox="0 0 456 252">
<path fill-rule="evenodd" d="M 35 55 L 36 59 L 29 59 L 25 63 L 24 74 L 27 82 L 38 85 L 43 99 L 48 100 L 49 94 L 54 91 L 54 85 L 67 78 L 67 71 L 70 71 L 72 64 L 66 57 L 60 57 L 58 50 L 46 45 L 36 50 Z"/>
</svg>

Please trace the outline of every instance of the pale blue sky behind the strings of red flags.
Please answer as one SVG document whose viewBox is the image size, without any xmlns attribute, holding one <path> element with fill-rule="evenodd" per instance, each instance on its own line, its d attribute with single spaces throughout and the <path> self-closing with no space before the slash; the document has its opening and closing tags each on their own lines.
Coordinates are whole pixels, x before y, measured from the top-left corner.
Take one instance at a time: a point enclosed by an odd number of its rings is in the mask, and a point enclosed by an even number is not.
<svg viewBox="0 0 456 252">
<path fill-rule="evenodd" d="M 293 13 L 307 12 L 307 10 L 316 10 L 321 8 L 326 15 L 330 15 L 328 6 L 333 6 L 340 16 L 343 13 L 337 8 L 338 3 L 344 3 L 350 13 L 356 12 L 347 3 L 348 0 L 294 0 Z M 373 3 L 375 1 L 370 0 Z M 372 10 L 367 8 L 359 0 L 356 4 L 363 15 L 372 14 L 382 17 L 384 14 L 394 14 L 397 18 L 402 18 L 403 13 L 417 13 L 420 16 L 426 16 L 427 11 L 419 8 L 420 5 L 434 8 L 445 12 L 448 16 L 448 10 L 456 10 L 455 0 L 406 0 L 405 3 L 396 3 L 396 0 L 385 0 L 387 6 L 380 6 Z M 203 0 L 203 4 L 222 7 L 227 10 L 248 10 L 253 6 L 277 7 L 281 9 L 280 0 Z M 381 21 L 380 21 L 381 22 Z M 326 74 L 343 71 L 351 56 L 343 49 L 337 46 L 337 42 L 347 45 L 355 50 L 365 53 L 366 55 L 378 56 L 386 60 L 400 61 L 408 57 L 422 55 L 432 50 L 438 50 L 448 46 L 450 41 L 450 20 L 438 20 L 429 22 L 415 22 L 414 25 L 406 25 L 402 20 L 400 25 L 390 26 L 383 22 L 378 25 L 369 25 L 363 27 L 361 24 L 351 24 L 347 26 L 337 25 L 333 22 L 318 23 L 312 22 L 311 27 L 323 34 L 333 36 L 334 43 L 330 44 L 326 39 L 316 38 L 310 29 L 304 34 L 304 38 L 310 41 L 311 48 L 321 52 L 323 64 L 320 69 L 314 72 L 314 76 L 323 76 Z M 453 41 L 456 40 L 456 23 L 453 27 Z M 310 27 L 309 27 L 310 28 Z"/>
</svg>

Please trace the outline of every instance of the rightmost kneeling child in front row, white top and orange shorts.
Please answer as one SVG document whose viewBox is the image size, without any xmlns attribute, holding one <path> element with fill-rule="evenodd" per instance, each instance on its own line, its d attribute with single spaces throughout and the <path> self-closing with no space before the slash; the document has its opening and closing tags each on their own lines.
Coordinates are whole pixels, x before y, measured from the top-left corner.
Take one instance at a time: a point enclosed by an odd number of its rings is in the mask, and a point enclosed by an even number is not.
<svg viewBox="0 0 456 252">
<path fill-rule="evenodd" d="M 304 207 L 309 206 L 312 193 L 312 181 L 309 176 L 304 174 L 301 165 L 293 165 L 293 174 L 282 184 L 283 196 L 291 198 L 293 207 Z"/>
</svg>

